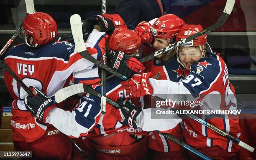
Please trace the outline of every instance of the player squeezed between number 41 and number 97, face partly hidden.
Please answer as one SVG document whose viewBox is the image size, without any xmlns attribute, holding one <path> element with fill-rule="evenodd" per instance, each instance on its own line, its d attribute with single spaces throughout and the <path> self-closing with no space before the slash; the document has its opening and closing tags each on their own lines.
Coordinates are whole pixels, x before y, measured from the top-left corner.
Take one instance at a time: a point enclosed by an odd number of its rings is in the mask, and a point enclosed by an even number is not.
<svg viewBox="0 0 256 160">
<path fill-rule="evenodd" d="M 157 51 L 172 44 L 175 41 L 176 35 L 179 33 L 179 29 L 184 24 L 184 21 L 178 16 L 167 14 L 156 19 L 153 25 L 146 22 L 139 23 L 135 32 L 141 36 L 141 39 L 144 39 L 144 43 L 151 43 L 154 50 Z M 179 82 L 179 80 L 185 79 L 184 72 L 188 72 L 177 62 L 175 50 L 170 50 L 168 53 L 161 54 L 145 64 L 146 72 L 151 72 L 151 78 L 157 80 L 172 80 L 174 82 Z M 154 97 L 144 96 L 145 103 L 148 107 L 154 102 L 153 98 Z M 177 125 L 171 134 L 179 140 L 184 141 L 182 136 L 182 124 Z M 151 159 L 187 159 L 187 150 L 157 132 L 149 133 L 148 148 L 151 149 Z"/>
</svg>

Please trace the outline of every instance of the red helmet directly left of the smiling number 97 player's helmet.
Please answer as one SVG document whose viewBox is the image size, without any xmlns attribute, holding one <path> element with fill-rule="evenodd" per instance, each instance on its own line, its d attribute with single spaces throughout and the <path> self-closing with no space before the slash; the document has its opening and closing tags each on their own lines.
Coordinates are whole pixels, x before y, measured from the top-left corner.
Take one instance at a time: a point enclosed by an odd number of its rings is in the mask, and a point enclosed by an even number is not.
<svg viewBox="0 0 256 160">
<path fill-rule="evenodd" d="M 168 44 L 171 44 L 184 24 L 184 21 L 177 15 L 163 15 L 154 22 L 151 33 L 156 38 L 166 38 Z"/>
</svg>

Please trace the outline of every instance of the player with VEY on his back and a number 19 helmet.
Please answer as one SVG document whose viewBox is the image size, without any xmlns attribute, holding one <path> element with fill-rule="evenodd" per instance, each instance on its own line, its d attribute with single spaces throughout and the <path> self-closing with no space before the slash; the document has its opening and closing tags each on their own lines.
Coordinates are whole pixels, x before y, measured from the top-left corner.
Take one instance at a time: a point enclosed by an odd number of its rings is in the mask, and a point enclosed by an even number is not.
<svg viewBox="0 0 256 160">
<path fill-rule="evenodd" d="M 4 60 L 28 87 L 36 87 L 52 97 L 69 83 L 72 73 L 75 76 L 76 72 L 84 71 L 84 76 L 80 74 L 79 78 L 88 85 L 100 80 L 97 67 L 80 56 L 75 45 L 54 42 L 58 30 L 50 15 L 41 12 L 27 15 L 23 20 L 23 33 L 26 44 L 10 48 Z M 92 34 L 88 40 L 90 44 L 85 45 L 93 57 L 101 60 L 107 36 L 104 32 Z M 86 72 L 90 72 L 90 78 Z M 27 93 L 8 72 L 5 71 L 4 75 L 5 84 L 14 99 L 11 124 L 15 149 L 31 150 L 33 158 L 72 159 L 73 147 L 67 136 L 28 112 L 24 105 Z M 63 107 L 63 104 L 58 107 Z"/>
</svg>

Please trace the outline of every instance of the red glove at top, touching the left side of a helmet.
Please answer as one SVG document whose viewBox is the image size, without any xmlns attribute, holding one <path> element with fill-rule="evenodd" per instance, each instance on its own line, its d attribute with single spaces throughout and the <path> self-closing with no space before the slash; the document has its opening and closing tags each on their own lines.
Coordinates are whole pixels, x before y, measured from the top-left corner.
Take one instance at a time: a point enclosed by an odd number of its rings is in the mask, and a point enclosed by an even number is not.
<svg viewBox="0 0 256 160">
<path fill-rule="evenodd" d="M 153 41 L 153 35 L 150 31 L 150 28 L 151 28 L 151 25 L 148 22 L 142 21 L 134 29 L 134 32 L 136 32 L 136 34 L 141 37 L 142 43 L 148 44 Z"/>
</svg>

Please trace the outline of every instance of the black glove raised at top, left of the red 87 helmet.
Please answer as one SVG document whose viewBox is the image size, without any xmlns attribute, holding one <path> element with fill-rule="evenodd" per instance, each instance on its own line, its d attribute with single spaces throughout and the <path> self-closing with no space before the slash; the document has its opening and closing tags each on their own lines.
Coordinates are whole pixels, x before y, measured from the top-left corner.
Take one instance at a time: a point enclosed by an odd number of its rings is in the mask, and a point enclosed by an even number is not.
<svg viewBox="0 0 256 160">
<path fill-rule="evenodd" d="M 85 28 L 89 34 L 92 32 L 95 25 L 100 25 L 101 32 L 106 32 L 108 35 L 115 30 L 113 21 L 101 15 L 94 15 L 86 20 Z"/>
</svg>

